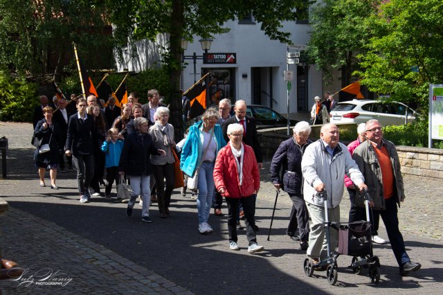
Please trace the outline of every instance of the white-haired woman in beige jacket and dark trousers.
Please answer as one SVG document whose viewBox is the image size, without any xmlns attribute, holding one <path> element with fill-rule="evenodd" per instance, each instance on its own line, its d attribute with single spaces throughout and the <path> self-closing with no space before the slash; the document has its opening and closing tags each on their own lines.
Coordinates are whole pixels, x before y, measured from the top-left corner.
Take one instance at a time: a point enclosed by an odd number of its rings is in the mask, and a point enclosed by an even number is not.
<svg viewBox="0 0 443 295">
<path fill-rule="evenodd" d="M 148 133 L 152 137 L 154 147 L 164 150 L 166 154 L 151 155 L 152 174 L 156 183 L 160 217 L 166 218 L 170 215 L 169 206 L 175 183 L 175 159 L 174 154 L 172 154 L 172 148 L 175 148 L 174 127 L 168 123 L 169 109 L 167 107 L 157 107 L 154 117 L 156 121 L 150 127 Z"/>
</svg>

